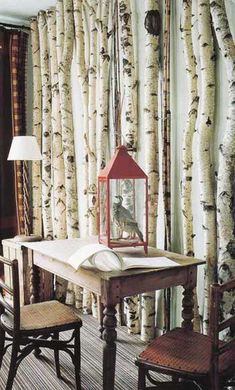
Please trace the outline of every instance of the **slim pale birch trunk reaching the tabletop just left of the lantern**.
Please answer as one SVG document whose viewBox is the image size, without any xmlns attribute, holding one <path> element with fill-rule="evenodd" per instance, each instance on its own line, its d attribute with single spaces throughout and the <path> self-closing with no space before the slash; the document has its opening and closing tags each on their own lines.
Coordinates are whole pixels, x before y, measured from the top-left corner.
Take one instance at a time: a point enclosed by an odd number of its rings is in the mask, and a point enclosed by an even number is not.
<svg viewBox="0 0 235 390">
<path fill-rule="evenodd" d="M 90 64 L 88 70 L 88 222 L 89 235 L 97 234 L 97 166 L 96 166 L 96 85 L 97 85 L 97 1 L 91 3 Z"/>
</svg>

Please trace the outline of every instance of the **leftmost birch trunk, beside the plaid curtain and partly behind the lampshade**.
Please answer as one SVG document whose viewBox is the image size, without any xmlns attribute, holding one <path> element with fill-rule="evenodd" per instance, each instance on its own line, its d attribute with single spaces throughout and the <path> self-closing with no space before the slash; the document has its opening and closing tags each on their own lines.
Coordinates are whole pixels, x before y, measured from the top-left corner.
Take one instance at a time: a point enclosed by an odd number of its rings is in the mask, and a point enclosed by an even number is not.
<svg viewBox="0 0 235 390">
<path fill-rule="evenodd" d="M 31 20 L 32 64 L 33 64 L 33 135 L 36 136 L 41 148 L 42 139 L 42 82 L 40 65 L 40 48 L 38 23 L 36 18 Z M 33 233 L 42 234 L 42 184 L 41 162 L 32 162 L 32 205 Z"/>
</svg>

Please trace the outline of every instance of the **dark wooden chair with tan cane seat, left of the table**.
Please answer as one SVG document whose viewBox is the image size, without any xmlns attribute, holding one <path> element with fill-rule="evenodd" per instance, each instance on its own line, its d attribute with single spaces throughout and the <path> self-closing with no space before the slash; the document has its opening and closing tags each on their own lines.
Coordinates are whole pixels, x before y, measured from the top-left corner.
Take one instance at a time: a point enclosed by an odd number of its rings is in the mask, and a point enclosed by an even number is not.
<svg viewBox="0 0 235 390">
<path fill-rule="evenodd" d="M 59 350 L 67 352 L 75 367 L 76 389 L 81 390 L 80 327 L 81 319 L 66 305 L 48 301 L 20 307 L 18 261 L 0 256 L 9 267 L 12 287 L 0 280 L 0 367 L 7 348 L 12 345 L 6 390 L 11 390 L 20 362 L 41 347 L 54 350 L 56 374 L 61 378 Z M 60 340 L 60 332 L 73 330 L 69 340 Z M 5 341 L 11 343 L 5 346 Z"/>
</svg>

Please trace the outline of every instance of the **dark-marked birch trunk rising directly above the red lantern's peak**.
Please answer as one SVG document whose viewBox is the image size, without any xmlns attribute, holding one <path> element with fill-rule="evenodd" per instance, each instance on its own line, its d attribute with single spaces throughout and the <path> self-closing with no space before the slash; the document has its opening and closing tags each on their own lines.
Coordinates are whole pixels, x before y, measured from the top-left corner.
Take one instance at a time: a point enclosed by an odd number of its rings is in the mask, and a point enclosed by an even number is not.
<svg viewBox="0 0 235 390">
<path fill-rule="evenodd" d="M 132 35 L 132 11 L 130 0 L 119 0 L 120 59 L 123 71 L 123 99 L 125 123 L 122 124 L 122 137 L 129 150 L 137 148 L 137 78 Z"/>
</svg>

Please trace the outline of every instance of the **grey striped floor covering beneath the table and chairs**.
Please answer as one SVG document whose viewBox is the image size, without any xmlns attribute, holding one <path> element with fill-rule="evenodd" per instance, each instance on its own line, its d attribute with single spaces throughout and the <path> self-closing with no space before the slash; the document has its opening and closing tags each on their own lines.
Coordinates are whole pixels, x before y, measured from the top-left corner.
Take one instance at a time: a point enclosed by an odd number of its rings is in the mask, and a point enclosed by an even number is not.
<svg viewBox="0 0 235 390">
<path fill-rule="evenodd" d="M 68 333 L 64 333 L 64 338 Z M 102 344 L 99 339 L 98 322 L 91 316 L 83 316 L 82 343 L 82 389 L 102 389 Z M 138 336 L 130 336 L 126 328 L 118 329 L 117 366 L 115 390 L 137 389 L 137 368 L 135 356 L 144 348 Z M 6 386 L 10 351 L 6 353 L 0 370 L 0 390 Z M 13 390 L 68 390 L 74 389 L 74 370 L 70 357 L 60 353 L 63 380 L 56 377 L 53 353 L 43 350 L 42 357 L 33 354 L 20 364 Z"/>
</svg>

